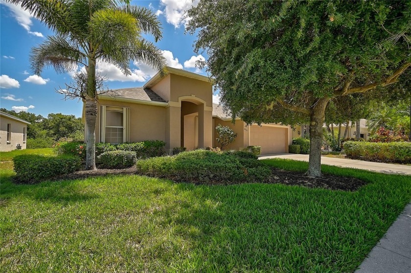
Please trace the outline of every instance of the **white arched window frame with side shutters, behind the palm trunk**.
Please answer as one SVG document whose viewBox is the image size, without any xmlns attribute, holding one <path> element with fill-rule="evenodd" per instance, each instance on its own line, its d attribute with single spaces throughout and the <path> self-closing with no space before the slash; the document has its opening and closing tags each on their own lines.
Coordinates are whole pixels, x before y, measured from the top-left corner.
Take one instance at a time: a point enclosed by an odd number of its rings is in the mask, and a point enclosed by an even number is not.
<svg viewBox="0 0 411 273">
<path fill-rule="evenodd" d="M 123 113 L 123 126 L 106 126 L 107 111 Z M 106 142 L 106 128 L 123 128 L 123 143 L 130 142 L 130 108 L 101 105 L 100 107 L 100 142 Z"/>
</svg>

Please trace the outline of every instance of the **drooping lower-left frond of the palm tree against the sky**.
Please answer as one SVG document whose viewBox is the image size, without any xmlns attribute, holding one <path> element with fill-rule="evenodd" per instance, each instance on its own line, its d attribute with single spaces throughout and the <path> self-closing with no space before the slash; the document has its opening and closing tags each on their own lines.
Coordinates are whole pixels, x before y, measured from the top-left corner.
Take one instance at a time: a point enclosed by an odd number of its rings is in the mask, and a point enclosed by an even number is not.
<svg viewBox="0 0 411 273">
<path fill-rule="evenodd" d="M 74 70 L 78 64 L 87 65 L 87 55 L 78 45 L 70 43 L 67 36 L 47 36 L 43 44 L 31 48 L 30 64 L 37 75 L 49 66 L 64 73 Z"/>
</svg>

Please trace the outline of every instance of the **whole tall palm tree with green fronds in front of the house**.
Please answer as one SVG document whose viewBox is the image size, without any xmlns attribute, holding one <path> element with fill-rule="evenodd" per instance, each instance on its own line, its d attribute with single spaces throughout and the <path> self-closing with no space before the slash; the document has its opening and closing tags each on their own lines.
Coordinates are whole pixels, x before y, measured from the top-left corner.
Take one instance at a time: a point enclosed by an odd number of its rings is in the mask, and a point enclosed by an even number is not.
<svg viewBox="0 0 411 273">
<path fill-rule="evenodd" d="M 160 22 L 149 9 L 115 0 L 7 1 L 21 4 L 55 32 L 31 50 L 30 63 L 36 74 L 49 66 L 60 73 L 86 68 L 86 169 L 95 169 L 96 62 L 114 64 L 127 75 L 131 74 L 130 60 L 139 61 L 165 75 L 160 49 L 141 37 L 143 32 L 153 35 L 156 42 L 160 40 Z"/>
</svg>

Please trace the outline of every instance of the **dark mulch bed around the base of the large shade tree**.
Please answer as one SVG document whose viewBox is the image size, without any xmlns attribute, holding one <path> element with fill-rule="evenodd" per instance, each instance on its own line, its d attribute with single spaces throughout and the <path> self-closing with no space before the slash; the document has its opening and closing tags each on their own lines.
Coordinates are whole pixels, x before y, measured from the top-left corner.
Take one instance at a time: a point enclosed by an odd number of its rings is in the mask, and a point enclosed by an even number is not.
<svg viewBox="0 0 411 273">
<path fill-rule="evenodd" d="M 353 177 L 322 174 L 322 177 L 314 178 L 308 177 L 302 172 L 282 169 L 273 169 L 270 183 L 343 191 L 356 191 L 359 187 L 367 184 L 367 182 Z"/>
</svg>

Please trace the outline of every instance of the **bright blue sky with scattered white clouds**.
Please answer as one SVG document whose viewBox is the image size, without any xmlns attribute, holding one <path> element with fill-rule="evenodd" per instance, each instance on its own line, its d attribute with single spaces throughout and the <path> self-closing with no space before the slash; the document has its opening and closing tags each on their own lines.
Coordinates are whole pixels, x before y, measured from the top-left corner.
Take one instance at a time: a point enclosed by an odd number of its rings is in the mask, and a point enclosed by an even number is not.
<svg viewBox="0 0 411 273">
<path fill-rule="evenodd" d="M 52 68 L 46 68 L 38 77 L 30 70 L 31 47 L 53 33 L 20 7 L 3 0 L 0 3 L 1 108 L 43 116 L 49 113 L 81 116 L 81 102 L 64 101 L 63 96 L 55 92 L 71 81 L 68 73 L 57 74 Z M 195 36 L 184 35 L 183 13 L 192 5 L 191 0 L 133 0 L 131 3 L 150 8 L 157 14 L 163 27 L 163 39 L 156 45 L 163 51 L 169 66 L 205 74 L 195 68 L 195 61 L 206 57 L 205 53 L 195 54 Z M 155 73 L 146 65 L 133 62 L 133 74 L 128 77 L 110 64 L 100 63 L 97 68 L 108 77 L 110 89 L 142 86 Z"/>
</svg>

